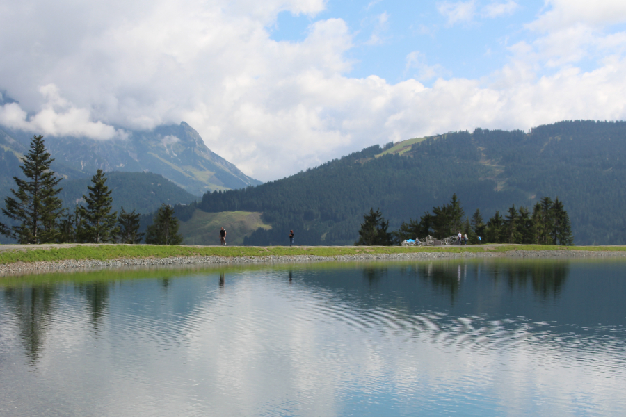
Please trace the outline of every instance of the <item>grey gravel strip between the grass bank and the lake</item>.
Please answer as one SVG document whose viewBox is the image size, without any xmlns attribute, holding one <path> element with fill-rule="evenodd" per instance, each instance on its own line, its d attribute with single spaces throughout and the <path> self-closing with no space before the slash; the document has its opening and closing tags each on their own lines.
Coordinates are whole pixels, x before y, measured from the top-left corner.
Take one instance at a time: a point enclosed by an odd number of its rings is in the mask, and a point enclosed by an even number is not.
<svg viewBox="0 0 626 417">
<path fill-rule="evenodd" d="M 428 259 L 470 259 L 470 258 L 536 258 L 536 259 L 575 259 L 575 258 L 624 258 L 624 251 L 584 251 L 584 250 L 512 250 L 508 252 L 415 252 L 404 254 L 355 254 L 340 256 L 178 256 L 170 258 L 112 259 L 110 261 L 66 260 L 54 262 L 17 262 L 0 265 L 2 275 L 24 275 L 42 272 L 70 272 L 72 270 L 98 270 L 104 268 L 172 266 L 172 265 L 227 265 L 259 263 L 306 263 L 328 261 L 423 261 Z"/>
</svg>

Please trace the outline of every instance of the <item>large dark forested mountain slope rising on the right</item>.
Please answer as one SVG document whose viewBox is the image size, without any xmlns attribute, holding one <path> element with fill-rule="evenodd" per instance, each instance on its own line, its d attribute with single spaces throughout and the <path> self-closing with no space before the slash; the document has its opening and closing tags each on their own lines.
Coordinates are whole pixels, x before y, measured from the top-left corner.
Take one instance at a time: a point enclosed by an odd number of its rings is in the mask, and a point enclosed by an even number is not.
<svg viewBox="0 0 626 417">
<path fill-rule="evenodd" d="M 300 245 L 342 245 L 354 243 L 370 207 L 392 229 L 453 193 L 466 215 L 480 208 L 485 217 L 549 196 L 564 202 L 576 244 L 624 244 L 625 164 L 626 122 L 476 129 L 370 147 L 262 186 L 207 193 L 185 210 L 262 212 L 273 229 L 248 245 L 287 243 L 289 229 Z"/>
</svg>

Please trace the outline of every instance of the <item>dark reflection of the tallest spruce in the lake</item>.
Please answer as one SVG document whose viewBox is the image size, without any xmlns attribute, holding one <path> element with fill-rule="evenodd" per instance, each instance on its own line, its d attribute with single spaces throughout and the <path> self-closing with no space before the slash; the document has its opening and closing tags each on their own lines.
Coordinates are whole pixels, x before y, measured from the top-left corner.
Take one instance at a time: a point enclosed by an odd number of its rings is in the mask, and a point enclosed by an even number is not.
<svg viewBox="0 0 626 417">
<path fill-rule="evenodd" d="M 4 300 L 12 306 L 19 326 L 19 340 L 26 357 L 35 364 L 43 350 L 47 327 L 57 298 L 56 287 L 40 285 L 5 288 Z"/>
</svg>

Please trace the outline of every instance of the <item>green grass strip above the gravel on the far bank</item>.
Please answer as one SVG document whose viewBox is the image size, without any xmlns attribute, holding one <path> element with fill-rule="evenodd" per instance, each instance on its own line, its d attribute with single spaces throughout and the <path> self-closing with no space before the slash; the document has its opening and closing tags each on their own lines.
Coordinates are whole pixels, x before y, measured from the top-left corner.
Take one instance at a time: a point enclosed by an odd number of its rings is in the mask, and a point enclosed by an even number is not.
<svg viewBox="0 0 626 417">
<path fill-rule="evenodd" d="M 624 246 L 545 246 L 545 245 L 474 245 L 452 247 L 243 247 L 243 246 L 159 246 L 159 245 L 75 245 L 70 247 L 3 247 L 0 264 L 69 259 L 108 261 L 129 258 L 169 258 L 172 256 L 339 256 L 355 254 L 399 254 L 412 252 L 508 252 L 513 250 L 591 250 L 624 251 Z"/>
</svg>

